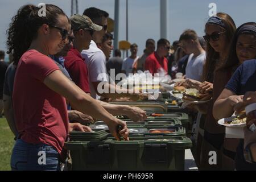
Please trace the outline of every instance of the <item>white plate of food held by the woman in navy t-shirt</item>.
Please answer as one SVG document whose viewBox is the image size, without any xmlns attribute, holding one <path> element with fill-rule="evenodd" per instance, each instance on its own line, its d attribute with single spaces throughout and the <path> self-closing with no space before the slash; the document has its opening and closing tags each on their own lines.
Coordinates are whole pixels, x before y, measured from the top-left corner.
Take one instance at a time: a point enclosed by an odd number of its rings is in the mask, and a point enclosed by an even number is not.
<svg viewBox="0 0 256 182">
<path fill-rule="evenodd" d="M 218 121 L 218 124 L 226 127 L 245 127 L 246 118 L 239 119 L 237 116 L 222 118 Z"/>
</svg>

